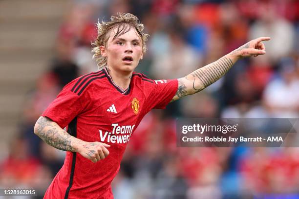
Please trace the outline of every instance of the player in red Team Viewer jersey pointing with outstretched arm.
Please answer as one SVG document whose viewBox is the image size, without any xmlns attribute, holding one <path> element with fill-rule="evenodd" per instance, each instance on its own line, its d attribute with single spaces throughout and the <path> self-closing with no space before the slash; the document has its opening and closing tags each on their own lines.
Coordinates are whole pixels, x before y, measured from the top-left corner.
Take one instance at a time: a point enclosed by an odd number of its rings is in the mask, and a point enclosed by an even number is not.
<svg viewBox="0 0 299 199">
<path fill-rule="evenodd" d="M 147 36 L 131 14 L 98 23 L 93 52 L 101 70 L 67 84 L 36 122 L 36 135 L 67 151 L 45 199 L 112 199 L 110 183 L 141 119 L 206 88 L 239 58 L 265 54 L 261 41 L 270 40 L 252 40 L 183 78 L 150 80 L 133 72 L 146 52 Z"/>
</svg>

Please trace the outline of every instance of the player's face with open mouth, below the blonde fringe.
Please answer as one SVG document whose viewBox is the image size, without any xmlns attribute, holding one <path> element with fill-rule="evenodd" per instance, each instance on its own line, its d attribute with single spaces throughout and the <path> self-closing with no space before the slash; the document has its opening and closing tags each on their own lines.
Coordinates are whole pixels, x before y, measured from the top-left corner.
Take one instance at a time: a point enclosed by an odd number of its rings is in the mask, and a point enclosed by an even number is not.
<svg viewBox="0 0 299 199">
<path fill-rule="evenodd" d="M 142 42 L 134 28 L 113 40 L 117 27 L 110 31 L 107 46 L 101 46 L 102 56 L 107 57 L 110 68 L 132 72 L 142 59 Z"/>
</svg>

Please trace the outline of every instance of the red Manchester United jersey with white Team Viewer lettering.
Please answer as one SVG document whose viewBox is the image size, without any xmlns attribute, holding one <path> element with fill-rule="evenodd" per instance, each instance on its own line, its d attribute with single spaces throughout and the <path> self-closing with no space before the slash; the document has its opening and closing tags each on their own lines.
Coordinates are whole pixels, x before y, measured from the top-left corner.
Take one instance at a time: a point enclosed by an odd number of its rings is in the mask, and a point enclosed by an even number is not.
<svg viewBox="0 0 299 199">
<path fill-rule="evenodd" d="M 66 152 L 64 165 L 45 199 L 112 199 L 110 183 L 120 168 L 130 136 L 153 108 L 164 109 L 178 88 L 177 80 L 150 80 L 133 73 L 127 90 L 118 87 L 104 68 L 68 83 L 43 112 L 67 132 L 85 141 L 105 142 L 107 158 L 96 163 Z"/>
</svg>

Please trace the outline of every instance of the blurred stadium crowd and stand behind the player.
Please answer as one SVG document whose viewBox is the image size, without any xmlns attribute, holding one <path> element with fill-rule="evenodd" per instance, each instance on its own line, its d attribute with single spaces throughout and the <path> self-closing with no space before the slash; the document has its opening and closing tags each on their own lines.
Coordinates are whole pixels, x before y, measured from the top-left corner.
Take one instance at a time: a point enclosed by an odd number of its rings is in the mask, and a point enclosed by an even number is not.
<svg viewBox="0 0 299 199">
<path fill-rule="evenodd" d="M 143 119 L 115 199 L 299 198 L 298 148 L 177 148 L 175 138 L 176 118 L 299 118 L 298 0 L 0 0 L 0 187 L 43 195 L 65 152 L 34 135 L 35 121 L 66 83 L 98 70 L 94 23 L 117 12 L 144 23 L 137 71 L 152 79 L 181 78 L 251 39 L 272 39 L 266 55 Z"/>
</svg>

